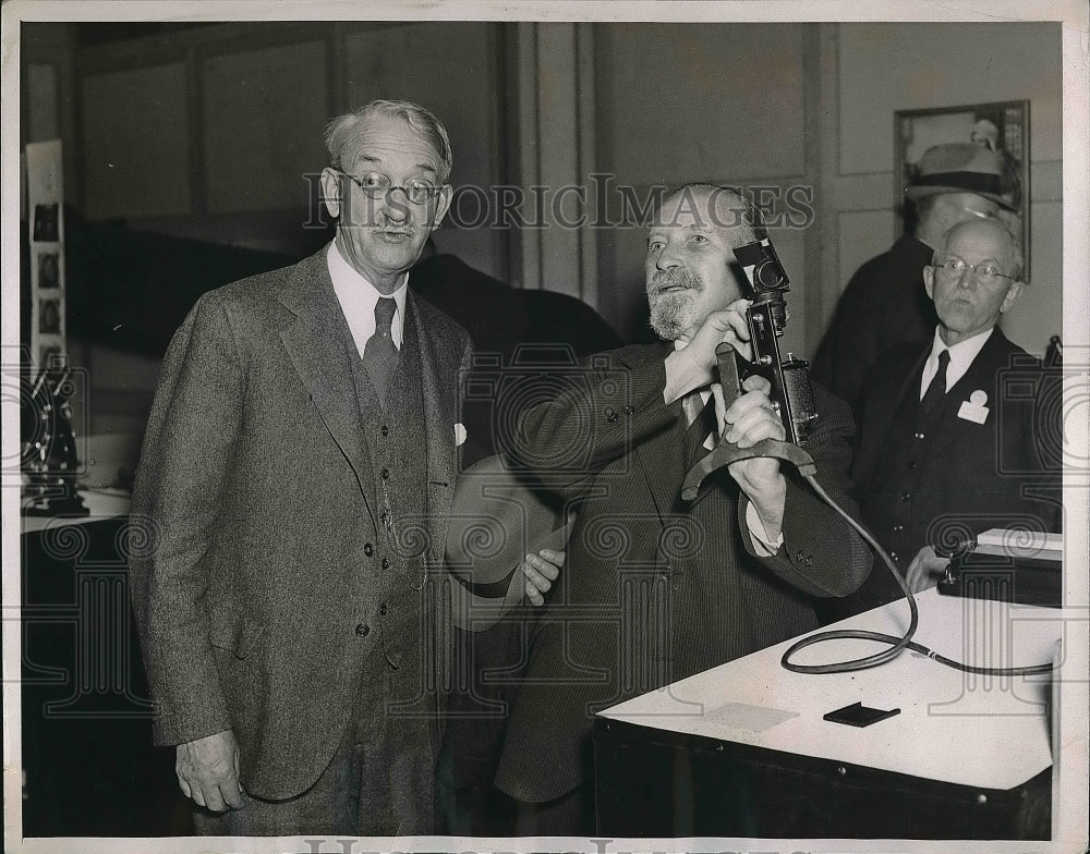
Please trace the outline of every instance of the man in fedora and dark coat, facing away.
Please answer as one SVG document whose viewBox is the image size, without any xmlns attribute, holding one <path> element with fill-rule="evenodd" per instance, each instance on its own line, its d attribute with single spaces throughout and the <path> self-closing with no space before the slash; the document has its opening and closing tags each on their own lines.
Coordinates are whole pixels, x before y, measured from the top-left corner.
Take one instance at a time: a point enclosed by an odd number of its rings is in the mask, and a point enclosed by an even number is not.
<svg viewBox="0 0 1090 854">
<path fill-rule="evenodd" d="M 845 289 L 812 373 L 852 408 L 879 356 L 908 341 L 924 341 L 935 328 L 935 309 L 923 290 L 923 269 L 954 225 L 995 219 L 1014 211 L 1014 187 L 1004 179 L 1003 158 L 973 143 L 929 148 L 905 191 L 915 203 L 916 230 L 867 261 Z"/>
</svg>

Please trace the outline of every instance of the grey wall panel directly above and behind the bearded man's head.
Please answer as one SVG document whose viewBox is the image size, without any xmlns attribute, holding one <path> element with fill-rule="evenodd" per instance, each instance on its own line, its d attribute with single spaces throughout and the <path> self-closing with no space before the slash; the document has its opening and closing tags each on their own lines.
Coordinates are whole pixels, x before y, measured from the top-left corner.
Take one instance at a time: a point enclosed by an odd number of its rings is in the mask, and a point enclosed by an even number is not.
<svg viewBox="0 0 1090 854">
<path fill-rule="evenodd" d="M 808 100 L 813 27 L 807 24 L 611 24 L 595 27 L 598 171 L 643 199 L 689 181 L 759 193 L 787 213 L 790 187 L 812 187 Z M 614 210 L 619 200 L 614 196 Z M 809 283 L 803 228 L 771 236 L 791 278 L 785 347 L 804 352 Z M 598 269 L 613 286 L 600 307 L 625 337 L 645 330 L 646 228 L 598 234 Z"/>
</svg>

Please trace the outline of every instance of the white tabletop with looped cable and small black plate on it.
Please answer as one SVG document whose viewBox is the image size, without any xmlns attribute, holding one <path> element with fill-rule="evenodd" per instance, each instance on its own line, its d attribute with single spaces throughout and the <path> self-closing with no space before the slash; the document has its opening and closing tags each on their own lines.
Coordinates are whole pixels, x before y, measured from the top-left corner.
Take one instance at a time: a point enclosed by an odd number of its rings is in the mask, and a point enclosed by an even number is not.
<svg viewBox="0 0 1090 854">
<path fill-rule="evenodd" d="M 917 643 L 980 666 L 1049 663 L 1065 631 L 1058 609 L 940 596 L 917 597 Z M 894 602 L 836 624 L 900 635 L 907 602 Z M 1085 631 L 1075 622 L 1069 631 Z M 763 649 L 644 694 L 601 712 L 634 724 L 626 737 L 689 745 L 740 746 L 779 757 L 811 757 L 833 776 L 858 778 L 861 769 L 904 776 L 913 782 L 972 790 L 1014 790 L 1052 765 L 1051 676 L 984 676 L 964 673 L 906 650 L 870 670 L 799 674 L 780 666 L 794 640 Z M 843 661 L 879 651 L 864 640 L 829 640 L 796 654 L 798 663 Z M 861 701 L 900 712 L 870 727 L 834 723 L 823 715 Z M 655 734 L 657 733 L 657 735 Z M 705 741 L 706 740 L 706 741 Z M 750 751 L 743 751 L 752 755 Z M 983 797 L 983 795 L 978 795 Z M 601 798 L 600 798 L 601 800 Z"/>
</svg>

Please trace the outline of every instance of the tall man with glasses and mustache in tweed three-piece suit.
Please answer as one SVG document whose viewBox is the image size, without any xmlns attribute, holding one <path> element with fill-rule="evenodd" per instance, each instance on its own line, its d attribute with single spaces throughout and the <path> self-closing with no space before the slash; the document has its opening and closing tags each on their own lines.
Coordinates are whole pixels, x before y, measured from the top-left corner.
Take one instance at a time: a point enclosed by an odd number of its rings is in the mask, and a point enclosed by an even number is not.
<svg viewBox="0 0 1090 854">
<path fill-rule="evenodd" d="M 450 143 L 428 111 L 374 101 L 326 145 L 336 239 L 201 297 L 133 495 L 154 737 L 202 834 L 436 827 L 471 344 L 407 270 L 450 204 Z"/>
</svg>

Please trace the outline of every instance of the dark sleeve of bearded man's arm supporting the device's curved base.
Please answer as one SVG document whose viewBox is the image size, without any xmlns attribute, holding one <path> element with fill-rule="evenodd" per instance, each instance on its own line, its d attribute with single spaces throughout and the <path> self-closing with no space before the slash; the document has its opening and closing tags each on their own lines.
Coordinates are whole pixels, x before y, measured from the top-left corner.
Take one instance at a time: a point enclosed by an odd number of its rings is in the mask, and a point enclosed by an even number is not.
<svg viewBox="0 0 1090 854">
<path fill-rule="evenodd" d="M 859 518 L 850 497 L 848 468 L 853 434 L 847 405 L 821 387 L 814 389 L 820 417 L 807 450 L 818 467 L 818 483 L 844 510 Z M 844 518 L 802 479 L 794 466 L 783 464 L 787 479 L 784 507 L 784 545 L 772 557 L 761 557 L 746 523 L 749 500 L 738 502 L 738 522 L 746 550 L 773 573 L 810 596 L 841 597 L 857 589 L 871 570 L 867 544 Z"/>
</svg>

